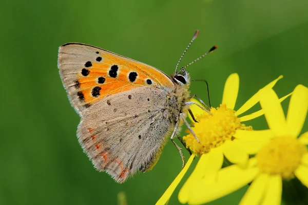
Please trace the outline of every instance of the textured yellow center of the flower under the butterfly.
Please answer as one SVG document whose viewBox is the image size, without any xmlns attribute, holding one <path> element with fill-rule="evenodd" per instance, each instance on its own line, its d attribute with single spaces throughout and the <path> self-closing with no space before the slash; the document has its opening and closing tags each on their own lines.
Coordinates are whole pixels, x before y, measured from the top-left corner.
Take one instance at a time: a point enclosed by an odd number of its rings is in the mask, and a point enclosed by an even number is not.
<svg viewBox="0 0 308 205">
<path fill-rule="evenodd" d="M 240 119 L 235 116 L 235 111 L 221 104 L 217 109 L 211 108 L 213 115 L 204 112 L 198 117 L 199 123 L 194 123 L 192 130 L 197 135 L 201 143 L 199 143 L 194 135 L 186 130 L 188 135 L 183 139 L 186 146 L 197 155 L 201 155 L 210 151 L 211 148 L 219 147 L 226 140 L 233 140 L 236 130 L 252 130 L 252 127 L 246 127 L 241 124 Z"/>
</svg>

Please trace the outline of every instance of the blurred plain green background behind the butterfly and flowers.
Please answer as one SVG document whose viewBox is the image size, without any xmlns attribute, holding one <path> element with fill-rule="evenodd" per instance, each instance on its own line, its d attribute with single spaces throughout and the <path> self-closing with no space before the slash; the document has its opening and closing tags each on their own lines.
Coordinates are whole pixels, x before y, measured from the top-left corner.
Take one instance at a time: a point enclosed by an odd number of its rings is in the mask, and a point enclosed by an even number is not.
<svg viewBox="0 0 308 205">
<path fill-rule="evenodd" d="M 234 72 L 240 76 L 236 109 L 281 74 L 284 78 L 275 86 L 279 96 L 297 84 L 308 86 L 306 0 L 0 4 L 0 204 L 116 204 L 121 191 L 128 204 L 153 204 L 181 170 L 170 141 L 152 171 L 121 185 L 93 169 L 76 139 L 80 118 L 57 69 L 57 50 L 67 42 L 98 46 L 172 74 L 199 29 L 181 65 L 218 45 L 188 68 L 191 78 L 208 80 L 214 107 L 219 106 L 227 76 Z M 207 100 L 203 83 L 192 83 L 190 90 Z M 288 100 L 285 110 L 287 105 Z M 258 105 L 253 110 L 257 109 Z M 267 128 L 263 116 L 249 125 Z M 303 131 L 307 130 L 306 121 Z M 237 204 L 245 190 L 210 204 Z M 179 204 L 178 191 L 169 204 Z"/>
</svg>

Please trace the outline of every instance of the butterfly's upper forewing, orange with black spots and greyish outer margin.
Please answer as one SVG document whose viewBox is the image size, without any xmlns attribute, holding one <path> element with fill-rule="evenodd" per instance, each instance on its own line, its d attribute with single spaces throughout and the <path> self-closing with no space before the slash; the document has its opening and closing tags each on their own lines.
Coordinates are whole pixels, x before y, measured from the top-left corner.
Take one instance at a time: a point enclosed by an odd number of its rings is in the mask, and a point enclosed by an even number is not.
<svg viewBox="0 0 308 205">
<path fill-rule="evenodd" d="M 124 56 L 79 43 L 60 47 L 58 67 L 70 103 L 82 115 L 95 101 L 137 87 L 174 87 L 158 69 Z"/>
</svg>

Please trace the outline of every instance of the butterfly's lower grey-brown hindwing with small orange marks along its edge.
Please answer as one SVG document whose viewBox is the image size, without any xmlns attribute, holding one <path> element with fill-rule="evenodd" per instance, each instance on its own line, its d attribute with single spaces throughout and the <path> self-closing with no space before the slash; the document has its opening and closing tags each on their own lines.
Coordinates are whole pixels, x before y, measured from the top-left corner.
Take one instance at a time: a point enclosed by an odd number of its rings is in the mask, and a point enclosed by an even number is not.
<svg viewBox="0 0 308 205">
<path fill-rule="evenodd" d="M 151 169 L 173 130 L 166 98 L 163 90 L 139 87 L 94 103 L 78 127 L 80 144 L 94 167 L 118 182 Z"/>
</svg>

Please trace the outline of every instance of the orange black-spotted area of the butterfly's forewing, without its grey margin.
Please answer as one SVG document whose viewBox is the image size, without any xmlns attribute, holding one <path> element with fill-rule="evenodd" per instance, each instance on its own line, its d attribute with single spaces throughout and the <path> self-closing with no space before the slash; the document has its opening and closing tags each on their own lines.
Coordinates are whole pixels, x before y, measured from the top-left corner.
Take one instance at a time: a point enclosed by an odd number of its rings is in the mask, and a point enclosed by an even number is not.
<svg viewBox="0 0 308 205">
<path fill-rule="evenodd" d="M 172 81 L 161 71 L 129 58 L 107 52 L 86 61 L 74 81 L 77 95 L 85 107 L 95 101 L 141 86 L 172 88 Z"/>
</svg>

